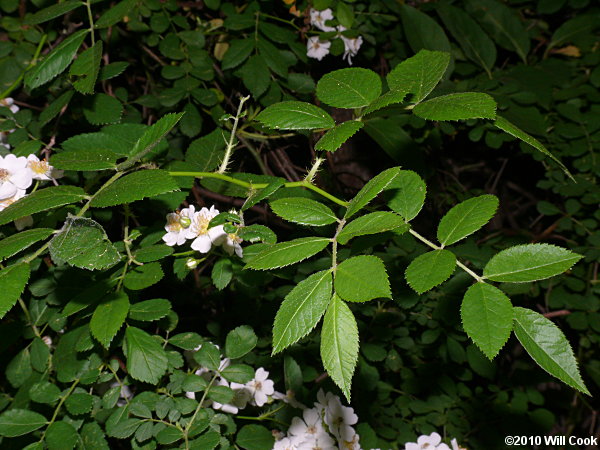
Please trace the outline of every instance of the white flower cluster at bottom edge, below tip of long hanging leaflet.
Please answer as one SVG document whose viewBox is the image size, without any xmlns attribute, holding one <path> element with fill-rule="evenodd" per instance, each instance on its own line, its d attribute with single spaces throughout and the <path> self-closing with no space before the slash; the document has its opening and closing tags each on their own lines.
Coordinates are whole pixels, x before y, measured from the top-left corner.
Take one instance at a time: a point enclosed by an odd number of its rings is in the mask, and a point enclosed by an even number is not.
<svg viewBox="0 0 600 450">
<path fill-rule="evenodd" d="M 354 409 L 340 398 L 320 390 L 314 408 L 294 417 L 287 431 L 278 436 L 273 450 L 360 450 L 359 436 L 352 425 L 358 422 Z"/>
</svg>

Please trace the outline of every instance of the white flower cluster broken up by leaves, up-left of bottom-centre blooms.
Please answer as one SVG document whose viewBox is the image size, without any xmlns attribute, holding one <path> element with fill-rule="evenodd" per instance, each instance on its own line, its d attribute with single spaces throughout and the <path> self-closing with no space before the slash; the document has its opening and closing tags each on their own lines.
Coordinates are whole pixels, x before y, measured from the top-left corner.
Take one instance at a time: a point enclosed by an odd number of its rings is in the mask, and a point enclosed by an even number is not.
<svg viewBox="0 0 600 450">
<path fill-rule="evenodd" d="M 219 364 L 219 371 L 226 369 L 231 361 L 229 358 L 224 358 Z M 196 370 L 196 375 L 203 377 L 206 381 L 210 381 L 215 373 L 211 370 L 201 367 Z M 263 406 L 268 403 L 270 398 L 275 394 L 275 383 L 269 380 L 269 372 L 262 367 L 256 369 L 254 378 L 246 384 L 228 382 L 223 377 L 216 379 L 217 386 L 225 386 L 233 390 L 234 396 L 230 403 L 222 404 L 214 400 L 208 400 L 207 406 L 212 406 L 213 409 L 229 413 L 237 414 L 240 409 L 244 409 L 248 404 L 252 406 Z M 195 399 L 194 392 L 186 392 L 185 396 Z"/>
</svg>

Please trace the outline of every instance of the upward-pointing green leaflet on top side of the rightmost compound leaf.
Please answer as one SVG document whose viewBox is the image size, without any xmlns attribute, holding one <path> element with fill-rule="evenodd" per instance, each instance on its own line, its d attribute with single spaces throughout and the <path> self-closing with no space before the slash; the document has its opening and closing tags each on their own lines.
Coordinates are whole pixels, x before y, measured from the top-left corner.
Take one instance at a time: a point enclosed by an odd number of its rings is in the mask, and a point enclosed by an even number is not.
<svg viewBox="0 0 600 450">
<path fill-rule="evenodd" d="M 494 195 L 473 197 L 452 207 L 438 225 L 437 238 L 442 246 L 451 245 L 475 233 L 496 213 L 498 198 Z"/>
</svg>

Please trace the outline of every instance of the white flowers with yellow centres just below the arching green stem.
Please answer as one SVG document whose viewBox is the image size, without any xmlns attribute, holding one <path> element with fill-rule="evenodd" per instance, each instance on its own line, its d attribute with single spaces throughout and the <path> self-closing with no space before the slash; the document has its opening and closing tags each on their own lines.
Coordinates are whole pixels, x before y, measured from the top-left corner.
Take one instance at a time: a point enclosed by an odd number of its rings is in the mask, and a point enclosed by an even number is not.
<svg viewBox="0 0 600 450">
<path fill-rule="evenodd" d="M 182 245 L 188 239 L 192 240 L 192 249 L 200 253 L 208 253 L 211 247 L 222 245 L 227 254 L 235 252 L 243 256 L 242 239 L 235 233 L 227 233 L 223 225 L 209 228 L 210 221 L 219 214 L 214 206 L 196 211 L 194 205 L 181 211 L 167 214 L 167 224 L 163 241 L 170 246 Z"/>
</svg>

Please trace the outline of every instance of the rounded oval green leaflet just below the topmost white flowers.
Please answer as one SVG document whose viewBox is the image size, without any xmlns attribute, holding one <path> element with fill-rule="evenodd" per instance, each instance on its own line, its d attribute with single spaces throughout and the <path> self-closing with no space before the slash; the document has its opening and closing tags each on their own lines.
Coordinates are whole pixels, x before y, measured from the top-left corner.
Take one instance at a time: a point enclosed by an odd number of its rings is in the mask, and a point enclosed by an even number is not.
<svg viewBox="0 0 600 450">
<path fill-rule="evenodd" d="M 317 83 L 317 97 L 335 108 L 361 108 L 381 94 L 379 75 L 369 69 L 349 67 L 324 75 Z"/>
</svg>

